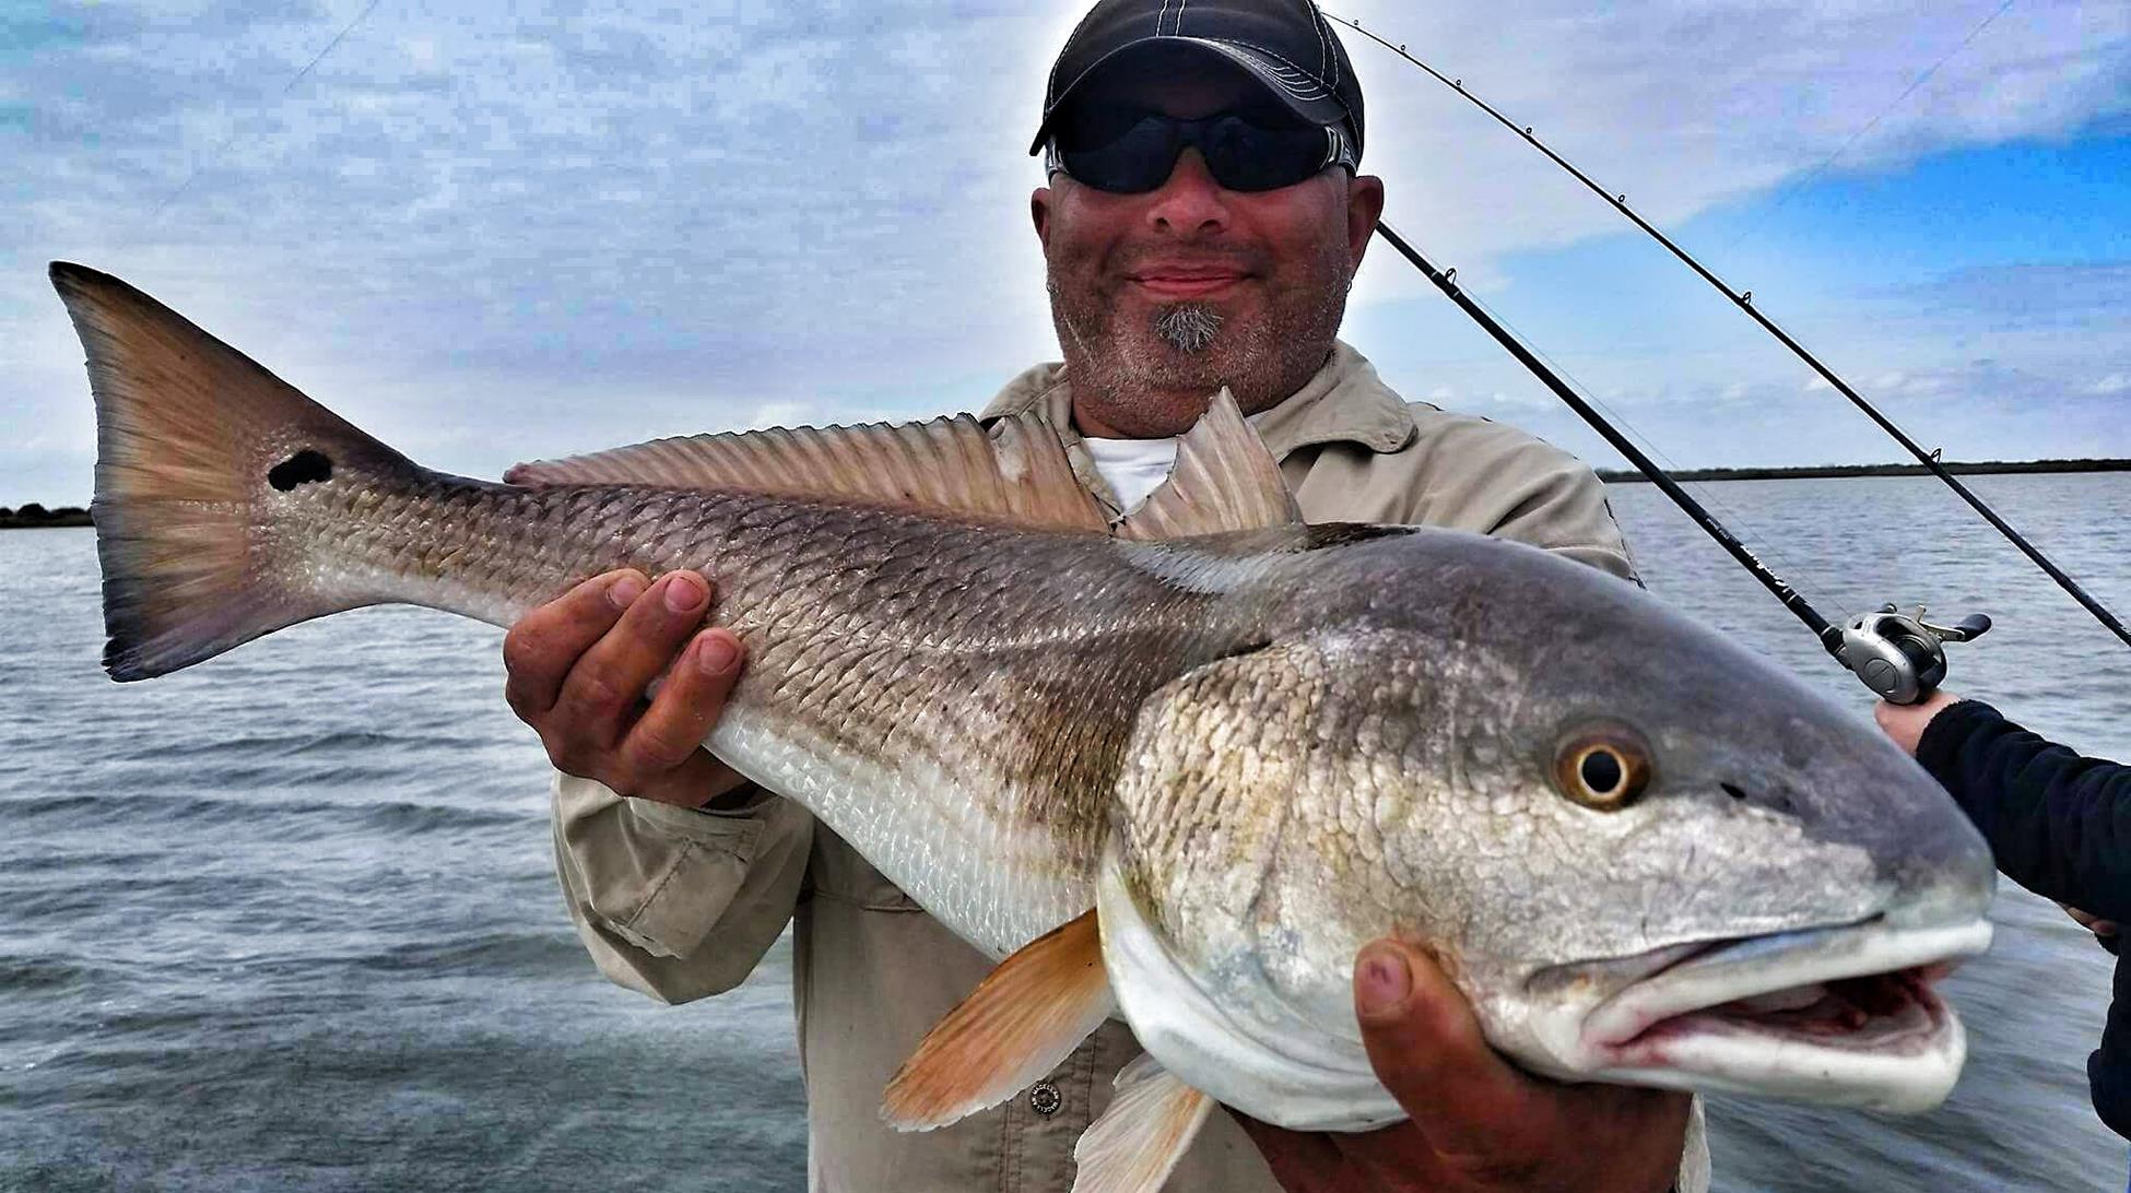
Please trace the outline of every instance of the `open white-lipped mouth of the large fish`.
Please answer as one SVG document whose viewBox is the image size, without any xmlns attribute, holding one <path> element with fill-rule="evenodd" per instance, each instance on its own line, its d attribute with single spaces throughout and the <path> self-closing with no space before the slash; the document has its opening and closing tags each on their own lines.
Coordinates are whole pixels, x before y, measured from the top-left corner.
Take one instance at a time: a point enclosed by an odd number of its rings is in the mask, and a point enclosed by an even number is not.
<svg viewBox="0 0 2131 1193">
<path fill-rule="evenodd" d="M 1922 1112 L 1946 1101 L 1967 1037 L 1931 988 L 1990 946 L 1990 925 L 1867 920 L 1660 948 L 1579 1031 L 1585 1076 Z"/>
</svg>

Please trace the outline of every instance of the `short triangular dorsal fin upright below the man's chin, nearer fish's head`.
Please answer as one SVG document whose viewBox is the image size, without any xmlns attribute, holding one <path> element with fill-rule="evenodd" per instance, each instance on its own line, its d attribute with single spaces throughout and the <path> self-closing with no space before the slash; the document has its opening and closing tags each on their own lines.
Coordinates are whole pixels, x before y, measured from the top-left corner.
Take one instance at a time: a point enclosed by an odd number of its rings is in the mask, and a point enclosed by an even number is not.
<svg viewBox="0 0 2131 1193">
<path fill-rule="evenodd" d="M 1119 539 L 1189 539 L 1302 522 L 1281 462 L 1223 388 L 1176 445 L 1161 488 L 1117 524 Z"/>
</svg>

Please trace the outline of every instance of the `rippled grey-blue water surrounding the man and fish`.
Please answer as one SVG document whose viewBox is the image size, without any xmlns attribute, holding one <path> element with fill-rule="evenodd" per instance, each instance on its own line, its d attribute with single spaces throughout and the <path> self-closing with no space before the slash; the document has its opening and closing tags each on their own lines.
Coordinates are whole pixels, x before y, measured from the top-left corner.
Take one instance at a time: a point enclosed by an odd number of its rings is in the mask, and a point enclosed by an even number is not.
<svg viewBox="0 0 2131 1193">
<path fill-rule="evenodd" d="M 2131 607 L 2131 477 L 1975 488 Z M 1992 611 L 1956 690 L 2131 758 L 2131 652 L 1935 481 L 1701 492 L 1828 614 Z M 1862 714 L 1656 490 L 1613 509 L 1656 592 Z M 684 1010 L 592 971 L 497 631 L 367 609 L 132 686 L 100 641 L 92 533 L 0 533 L 0 1189 L 803 1184 L 788 954 Z M 1946 1108 L 1718 1101 L 1718 1187 L 2122 1189 L 2084 1078 L 2110 959 L 2022 890 L 1995 916 L 1948 982 L 1971 1061 Z"/>
</svg>

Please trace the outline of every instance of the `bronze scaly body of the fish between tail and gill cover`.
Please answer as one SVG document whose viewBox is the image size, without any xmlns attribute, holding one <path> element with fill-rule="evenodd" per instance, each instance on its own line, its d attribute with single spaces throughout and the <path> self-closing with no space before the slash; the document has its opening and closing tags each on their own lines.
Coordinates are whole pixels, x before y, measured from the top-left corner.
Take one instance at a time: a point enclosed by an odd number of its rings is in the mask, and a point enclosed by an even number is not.
<svg viewBox="0 0 2131 1193">
<path fill-rule="evenodd" d="M 703 571 L 716 620 L 748 648 L 712 746 L 876 841 L 891 880 L 999 954 L 1089 905 L 1138 705 L 1223 637 L 1215 596 L 1134 560 L 1155 548 L 1089 535 L 390 475 L 281 501 L 281 533 L 303 543 L 303 575 L 283 584 L 497 624 L 556 596 L 558 577 Z"/>
</svg>

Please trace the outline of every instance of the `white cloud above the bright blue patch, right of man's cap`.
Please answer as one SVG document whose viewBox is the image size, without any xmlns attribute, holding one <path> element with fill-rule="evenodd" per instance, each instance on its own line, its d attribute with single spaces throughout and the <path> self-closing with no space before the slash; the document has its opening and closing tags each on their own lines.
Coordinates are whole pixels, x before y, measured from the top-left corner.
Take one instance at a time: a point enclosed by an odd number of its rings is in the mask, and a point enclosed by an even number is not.
<svg viewBox="0 0 2131 1193">
<path fill-rule="evenodd" d="M 1677 226 L 1799 179 L 1843 145 L 1839 170 L 1886 170 L 1952 147 L 2065 136 L 2131 109 L 2131 11 L 2022 4 L 1961 47 L 1997 6 L 1660 0 L 1630 15 L 1541 2 L 1519 4 L 1504 23 L 1483 4 L 1374 4 L 1364 19 L 1536 128 L 1609 190 L 1628 192 L 1660 226 Z M 1372 126 L 1398 130 L 1396 149 L 1372 147 L 1372 162 L 1389 173 L 1394 211 L 1430 228 L 1432 241 L 1494 254 L 1617 226 L 1464 100 L 1357 36 L 1347 40 Z"/>
</svg>

